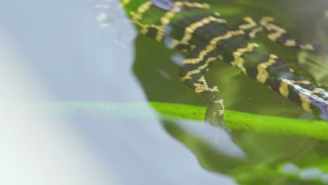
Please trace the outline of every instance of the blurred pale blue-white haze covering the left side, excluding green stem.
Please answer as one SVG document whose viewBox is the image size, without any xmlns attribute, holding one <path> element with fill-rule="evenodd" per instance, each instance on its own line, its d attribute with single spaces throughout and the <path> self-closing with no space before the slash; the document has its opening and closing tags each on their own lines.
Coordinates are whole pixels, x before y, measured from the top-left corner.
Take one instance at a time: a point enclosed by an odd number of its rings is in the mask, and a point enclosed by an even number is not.
<svg viewBox="0 0 328 185">
<path fill-rule="evenodd" d="M 122 12 L 104 10 L 113 22 L 100 28 L 94 1 L 16 4 L 0 3 L 0 184 L 235 184 L 203 170 L 156 114 L 67 118 L 22 108 L 146 98 L 131 70 L 135 31 L 117 21 Z"/>
</svg>

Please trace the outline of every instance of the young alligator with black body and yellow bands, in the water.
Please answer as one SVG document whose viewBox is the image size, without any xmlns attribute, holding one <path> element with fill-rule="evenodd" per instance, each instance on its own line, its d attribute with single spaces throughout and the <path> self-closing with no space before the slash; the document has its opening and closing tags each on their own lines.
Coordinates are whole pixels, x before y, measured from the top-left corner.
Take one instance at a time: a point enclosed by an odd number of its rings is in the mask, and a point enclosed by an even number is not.
<svg viewBox="0 0 328 185">
<path fill-rule="evenodd" d="M 170 48 L 187 50 L 180 67 L 181 80 L 209 103 L 207 121 L 221 123 L 224 101 L 217 86 L 205 79 L 205 73 L 218 58 L 238 67 L 247 76 L 267 85 L 305 111 L 328 120 L 328 93 L 313 85 L 257 43 L 249 42 L 262 29 L 271 41 L 302 50 L 324 51 L 315 43 L 292 39 L 270 17 L 244 18 L 235 28 L 213 12 L 210 5 L 196 0 L 121 0 L 132 22 L 142 34 Z"/>
</svg>

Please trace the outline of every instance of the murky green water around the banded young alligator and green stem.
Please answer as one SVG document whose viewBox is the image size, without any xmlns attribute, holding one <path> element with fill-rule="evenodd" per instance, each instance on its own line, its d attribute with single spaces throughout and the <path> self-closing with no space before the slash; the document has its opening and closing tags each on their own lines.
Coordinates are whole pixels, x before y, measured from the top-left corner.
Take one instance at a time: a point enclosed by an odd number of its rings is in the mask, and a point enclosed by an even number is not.
<svg viewBox="0 0 328 185">
<path fill-rule="evenodd" d="M 324 15 L 328 10 L 327 1 L 240 0 L 209 3 L 230 22 L 231 26 L 246 15 L 269 15 L 278 20 L 280 25 L 296 38 L 328 44 L 328 18 Z M 258 34 L 254 41 L 278 55 L 297 71 L 301 71 L 304 76 L 328 86 L 328 64 L 323 55 L 303 53 L 294 48 L 280 46 L 269 41 L 264 33 Z M 202 97 L 179 81 L 179 67 L 171 60 L 171 56 L 177 53 L 176 50 L 168 50 L 144 36 L 137 37 L 135 47 L 133 71 L 149 101 L 206 106 Z M 301 57 L 304 56 L 315 60 L 317 64 L 301 62 Z M 303 115 L 301 108 L 264 85 L 247 78 L 240 70 L 229 64 L 217 61 L 207 76 L 212 83 L 218 85 L 226 109 L 291 118 Z M 328 174 L 328 142 L 301 136 L 231 131 L 229 134 L 233 142 L 247 156 L 236 159 L 215 151 L 202 139 L 182 129 L 175 121 L 163 121 L 163 127 L 172 137 L 177 138 L 195 153 L 203 168 L 231 175 L 240 184 L 328 184 L 327 175 L 320 174 L 320 170 Z M 299 167 L 299 170 L 286 174 L 280 169 L 285 163 L 292 163 Z M 314 174 L 306 179 L 302 176 L 301 170 L 306 174 L 308 167 L 314 167 Z M 312 172 L 309 169 L 308 171 Z"/>
</svg>

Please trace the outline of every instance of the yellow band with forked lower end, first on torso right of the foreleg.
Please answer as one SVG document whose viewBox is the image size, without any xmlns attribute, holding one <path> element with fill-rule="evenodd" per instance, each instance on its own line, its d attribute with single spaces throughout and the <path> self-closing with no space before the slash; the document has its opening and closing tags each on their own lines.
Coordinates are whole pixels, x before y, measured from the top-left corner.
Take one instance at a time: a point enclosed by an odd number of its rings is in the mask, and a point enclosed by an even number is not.
<svg viewBox="0 0 328 185">
<path fill-rule="evenodd" d="M 244 60 L 242 59 L 242 55 L 247 52 L 251 52 L 253 48 L 259 47 L 257 43 L 248 43 L 245 48 L 238 48 L 235 52 L 233 52 L 234 60 L 231 62 L 233 67 L 239 67 L 242 72 L 247 75 L 247 71 L 244 67 Z"/>
</svg>

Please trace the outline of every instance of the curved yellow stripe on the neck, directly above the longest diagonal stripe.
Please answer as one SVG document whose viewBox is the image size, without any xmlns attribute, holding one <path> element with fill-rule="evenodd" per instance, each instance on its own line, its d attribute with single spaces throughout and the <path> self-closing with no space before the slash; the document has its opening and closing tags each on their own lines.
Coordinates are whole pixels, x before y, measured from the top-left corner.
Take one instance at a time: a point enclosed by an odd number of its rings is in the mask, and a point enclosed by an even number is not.
<svg viewBox="0 0 328 185">
<path fill-rule="evenodd" d="M 193 36 L 193 32 L 196 31 L 196 29 L 203 27 L 204 25 L 209 24 L 210 22 L 224 22 L 226 23 L 226 20 L 224 19 L 219 19 L 219 18 L 214 18 L 212 16 L 209 16 L 207 18 L 203 18 L 202 20 L 198 21 L 198 22 L 193 22 L 191 25 L 189 25 L 188 27 L 186 27 L 184 29 L 184 36 L 180 41 L 177 40 L 173 40 L 172 41 L 172 47 L 178 46 L 179 44 L 184 44 L 184 45 L 188 45 L 189 41 L 191 40 L 192 36 Z"/>
</svg>

